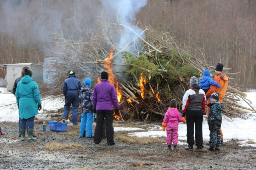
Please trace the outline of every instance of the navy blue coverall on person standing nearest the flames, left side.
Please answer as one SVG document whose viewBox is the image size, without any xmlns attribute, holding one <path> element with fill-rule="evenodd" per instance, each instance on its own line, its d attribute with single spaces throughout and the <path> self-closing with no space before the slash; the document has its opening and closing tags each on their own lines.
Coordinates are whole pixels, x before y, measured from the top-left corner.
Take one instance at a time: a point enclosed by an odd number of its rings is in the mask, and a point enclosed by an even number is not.
<svg viewBox="0 0 256 170">
<path fill-rule="evenodd" d="M 78 106 L 79 106 L 79 90 L 82 88 L 80 80 L 76 78 L 75 75 L 70 75 L 68 79 L 65 80 L 62 92 L 65 96 L 65 105 L 64 105 L 64 115 L 63 118 L 68 118 L 68 112 L 72 104 L 72 123 L 77 124 L 78 117 Z"/>
</svg>

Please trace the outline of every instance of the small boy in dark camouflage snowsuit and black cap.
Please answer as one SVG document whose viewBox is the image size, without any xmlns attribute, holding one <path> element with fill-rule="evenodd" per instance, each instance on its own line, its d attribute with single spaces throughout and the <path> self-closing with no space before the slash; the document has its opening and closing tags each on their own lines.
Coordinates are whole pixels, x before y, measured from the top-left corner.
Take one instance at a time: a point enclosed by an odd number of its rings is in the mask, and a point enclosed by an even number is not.
<svg viewBox="0 0 256 170">
<path fill-rule="evenodd" d="M 211 95 L 212 102 L 208 104 L 210 107 L 209 117 L 208 117 L 208 125 L 210 130 L 210 141 L 209 150 L 215 151 L 220 150 L 221 145 L 221 134 L 220 127 L 222 122 L 222 104 L 218 101 L 220 94 L 215 92 Z"/>
</svg>

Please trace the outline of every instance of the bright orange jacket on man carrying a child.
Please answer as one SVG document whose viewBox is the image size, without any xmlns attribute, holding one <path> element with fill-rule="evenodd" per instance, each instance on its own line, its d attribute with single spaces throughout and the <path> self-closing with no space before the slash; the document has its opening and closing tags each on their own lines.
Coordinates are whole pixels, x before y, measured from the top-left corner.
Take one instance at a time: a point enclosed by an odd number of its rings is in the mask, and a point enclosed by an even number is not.
<svg viewBox="0 0 256 170">
<path fill-rule="evenodd" d="M 210 89 L 205 94 L 206 98 L 209 98 L 214 92 L 218 92 L 220 94 L 220 103 L 222 103 L 222 99 L 225 96 L 227 86 L 228 86 L 228 77 L 225 75 L 224 72 L 219 72 L 214 78 L 218 84 L 220 84 L 221 88 L 217 88 L 216 86 L 210 86 Z"/>
</svg>

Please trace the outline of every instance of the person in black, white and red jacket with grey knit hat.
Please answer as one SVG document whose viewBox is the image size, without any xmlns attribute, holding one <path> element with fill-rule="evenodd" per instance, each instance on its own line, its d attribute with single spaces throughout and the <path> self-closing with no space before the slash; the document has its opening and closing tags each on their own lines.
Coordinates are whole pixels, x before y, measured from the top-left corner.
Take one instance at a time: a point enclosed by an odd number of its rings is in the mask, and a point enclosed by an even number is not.
<svg viewBox="0 0 256 170">
<path fill-rule="evenodd" d="M 206 97 L 204 90 L 198 86 L 198 78 L 190 78 L 190 89 L 186 91 L 182 99 L 182 112 L 187 120 L 187 143 L 186 150 L 193 150 L 194 145 L 194 125 L 196 129 L 196 147 L 203 149 L 203 115 L 206 107 Z"/>
</svg>

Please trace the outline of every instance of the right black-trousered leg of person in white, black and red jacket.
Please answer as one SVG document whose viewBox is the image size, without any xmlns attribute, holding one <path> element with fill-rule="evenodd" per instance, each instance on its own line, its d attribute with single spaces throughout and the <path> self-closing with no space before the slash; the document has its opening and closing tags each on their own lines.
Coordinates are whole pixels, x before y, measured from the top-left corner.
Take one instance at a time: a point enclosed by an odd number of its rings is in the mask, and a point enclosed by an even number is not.
<svg viewBox="0 0 256 170">
<path fill-rule="evenodd" d="M 204 148 L 203 146 L 203 131 L 202 131 L 202 127 L 203 127 L 203 111 L 202 110 L 198 110 L 195 111 L 195 138 L 196 138 L 196 147 L 198 149 L 202 149 Z"/>
</svg>

